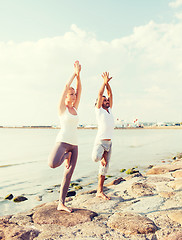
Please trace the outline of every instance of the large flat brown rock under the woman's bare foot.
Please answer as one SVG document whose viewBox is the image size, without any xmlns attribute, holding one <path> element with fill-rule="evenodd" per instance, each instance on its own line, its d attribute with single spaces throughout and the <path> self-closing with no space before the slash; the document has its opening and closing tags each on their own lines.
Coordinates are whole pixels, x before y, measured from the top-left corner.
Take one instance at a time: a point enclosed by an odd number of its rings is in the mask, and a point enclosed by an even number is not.
<svg viewBox="0 0 182 240">
<path fill-rule="evenodd" d="M 85 209 L 73 209 L 73 213 L 57 210 L 57 203 L 45 204 L 35 211 L 33 221 L 37 224 L 56 224 L 65 227 L 91 221 L 97 213 Z"/>
</svg>

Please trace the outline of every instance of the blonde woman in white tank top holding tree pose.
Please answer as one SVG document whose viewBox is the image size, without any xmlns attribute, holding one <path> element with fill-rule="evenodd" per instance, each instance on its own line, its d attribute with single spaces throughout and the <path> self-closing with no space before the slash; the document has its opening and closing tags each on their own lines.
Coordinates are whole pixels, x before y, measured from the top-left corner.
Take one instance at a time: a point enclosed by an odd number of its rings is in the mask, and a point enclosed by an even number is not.
<svg viewBox="0 0 182 240">
<path fill-rule="evenodd" d="M 49 166 L 51 168 L 59 167 L 63 162 L 65 163 L 65 171 L 60 188 L 60 198 L 57 210 L 64 210 L 67 212 L 72 212 L 72 209 L 65 206 L 65 198 L 78 156 L 77 109 L 81 96 L 80 71 L 81 65 L 79 64 L 79 61 L 76 61 L 74 64 L 74 74 L 67 82 L 59 102 L 61 130 L 56 139 L 56 146 L 49 157 Z M 75 77 L 76 92 L 75 89 L 71 87 Z"/>
</svg>

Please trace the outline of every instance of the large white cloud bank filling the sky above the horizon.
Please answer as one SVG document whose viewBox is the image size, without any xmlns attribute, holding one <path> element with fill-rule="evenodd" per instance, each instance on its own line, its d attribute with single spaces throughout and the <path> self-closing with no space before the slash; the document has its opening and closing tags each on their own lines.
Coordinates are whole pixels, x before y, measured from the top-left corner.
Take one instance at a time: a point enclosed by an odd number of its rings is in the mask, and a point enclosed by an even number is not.
<svg viewBox="0 0 182 240">
<path fill-rule="evenodd" d="M 82 64 L 80 122 L 95 121 L 103 71 L 113 76 L 116 117 L 179 120 L 181 39 L 182 23 L 151 21 L 111 42 L 98 41 L 76 25 L 63 36 L 37 42 L 1 42 L 0 125 L 58 123 L 57 103 L 76 59 Z"/>
</svg>

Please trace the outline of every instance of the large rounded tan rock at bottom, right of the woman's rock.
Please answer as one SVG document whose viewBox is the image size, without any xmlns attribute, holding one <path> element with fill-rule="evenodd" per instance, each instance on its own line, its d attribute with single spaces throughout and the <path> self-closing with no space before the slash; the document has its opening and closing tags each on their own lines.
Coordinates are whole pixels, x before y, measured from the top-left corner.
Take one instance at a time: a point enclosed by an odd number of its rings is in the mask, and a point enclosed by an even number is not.
<svg viewBox="0 0 182 240">
<path fill-rule="evenodd" d="M 114 213 L 107 225 L 129 235 L 155 233 L 157 230 L 157 226 L 151 219 L 134 213 Z"/>
</svg>

